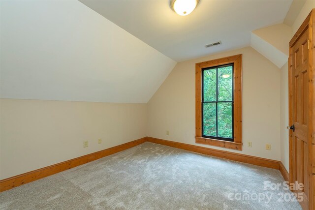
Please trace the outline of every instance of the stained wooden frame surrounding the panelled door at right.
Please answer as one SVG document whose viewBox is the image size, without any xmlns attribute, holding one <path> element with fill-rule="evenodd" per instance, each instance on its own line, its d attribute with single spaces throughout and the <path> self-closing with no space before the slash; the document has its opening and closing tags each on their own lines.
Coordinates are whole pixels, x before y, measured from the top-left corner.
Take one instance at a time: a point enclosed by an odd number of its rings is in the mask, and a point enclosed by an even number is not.
<svg viewBox="0 0 315 210">
<path fill-rule="evenodd" d="M 315 209 L 315 8 L 307 16 L 301 27 L 296 31 L 289 42 L 288 79 L 289 79 L 289 125 L 292 119 L 292 46 L 300 38 L 303 32 L 309 29 L 309 209 Z M 289 130 L 289 177 L 293 183 L 293 140 L 292 130 Z"/>
</svg>

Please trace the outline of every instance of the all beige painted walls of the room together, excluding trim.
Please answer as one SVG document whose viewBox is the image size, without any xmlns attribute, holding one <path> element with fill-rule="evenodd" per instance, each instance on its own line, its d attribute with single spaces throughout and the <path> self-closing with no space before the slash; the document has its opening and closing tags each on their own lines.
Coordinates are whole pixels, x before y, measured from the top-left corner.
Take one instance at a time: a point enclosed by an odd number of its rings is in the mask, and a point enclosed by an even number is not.
<svg viewBox="0 0 315 210">
<path fill-rule="evenodd" d="M 305 3 L 294 32 L 313 7 L 314 1 Z M 281 160 L 288 170 L 287 63 L 280 70 L 247 47 L 178 63 L 148 104 L 0 99 L 0 179 L 144 136 L 197 145 L 194 64 L 241 53 L 244 147 L 229 151 Z"/>
</svg>

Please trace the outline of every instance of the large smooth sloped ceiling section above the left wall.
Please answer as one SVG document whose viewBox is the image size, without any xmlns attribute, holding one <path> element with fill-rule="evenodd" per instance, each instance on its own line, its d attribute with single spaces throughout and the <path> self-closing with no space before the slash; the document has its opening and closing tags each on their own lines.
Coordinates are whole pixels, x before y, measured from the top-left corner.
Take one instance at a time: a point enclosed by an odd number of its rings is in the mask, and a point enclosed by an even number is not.
<svg viewBox="0 0 315 210">
<path fill-rule="evenodd" d="M 1 0 L 1 98 L 146 103 L 176 62 L 77 0 Z"/>
</svg>

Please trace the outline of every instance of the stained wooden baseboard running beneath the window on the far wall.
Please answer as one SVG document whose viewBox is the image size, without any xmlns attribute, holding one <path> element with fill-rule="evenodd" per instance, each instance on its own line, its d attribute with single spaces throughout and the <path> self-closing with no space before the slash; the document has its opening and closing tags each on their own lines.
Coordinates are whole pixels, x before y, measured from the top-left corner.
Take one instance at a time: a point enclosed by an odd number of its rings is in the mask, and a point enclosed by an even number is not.
<svg viewBox="0 0 315 210">
<path fill-rule="evenodd" d="M 277 160 L 271 160 L 271 159 L 265 159 L 261 157 L 255 157 L 255 156 L 250 156 L 246 154 L 240 154 L 240 153 L 235 153 L 235 152 L 229 152 L 229 151 L 222 151 L 222 150 L 215 150 L 215 149 L 210 149 L 210 148 L 205 148 L 205 147 L 199 147 L 195 145 L 189 145 L 189 144 L 184 144 L 184 143 L 179 143 L 179 142 L 172 142 L 172 141 L 167 141 L 163 139 L 157 139 L 153 137 L 147 137 L 148 142 L 153 142 L 161 145 L 166 145 L 169 147 L 174 147 L 174 148 L 179 148 L 183 150 L 189 150 L 189 151 L 194 151 L 202 154 L 208 154 L 216 157 L 221 157 L 229 160 L 235 160 L 243 163 L 249 163 L 252 165 L 257 165 L 257 166 L 263 166 L 267 168 L 273 168 L 273 169 L 278 169 L 280 166 L 280 161 Z"/>
</svg>

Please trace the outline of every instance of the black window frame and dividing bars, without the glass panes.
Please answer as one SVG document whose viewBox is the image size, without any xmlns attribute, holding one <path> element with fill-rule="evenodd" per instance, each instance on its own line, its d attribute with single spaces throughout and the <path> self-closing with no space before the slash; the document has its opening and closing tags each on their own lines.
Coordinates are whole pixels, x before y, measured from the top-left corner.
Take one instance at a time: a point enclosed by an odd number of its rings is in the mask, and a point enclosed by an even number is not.
<svg viewBox="0 0 315 210">
<path fill-rule="evenodd" d="M 218 101 L 218 68 L 232 66 L 232 101 Z M 216 101 L 204 101 L 204 71 L 216 69 L 217 71 L 217 91 L 216 91 Z M 223 141 L 234 142 L 234 63 L 228 63 L 224 65 L 211 66 L 208 68 L 201 69 L 201 134 L 204 138 L 217 139 Z M 204 135 L 204 121 L 203 121 L 203 104 L 204 103 L 216 103 L 216 129 L 217 136 Z M 218 136 L 218 103 L 231 103 L 232 104 L 232 138 L 220 137 Z"/>
</svg>

